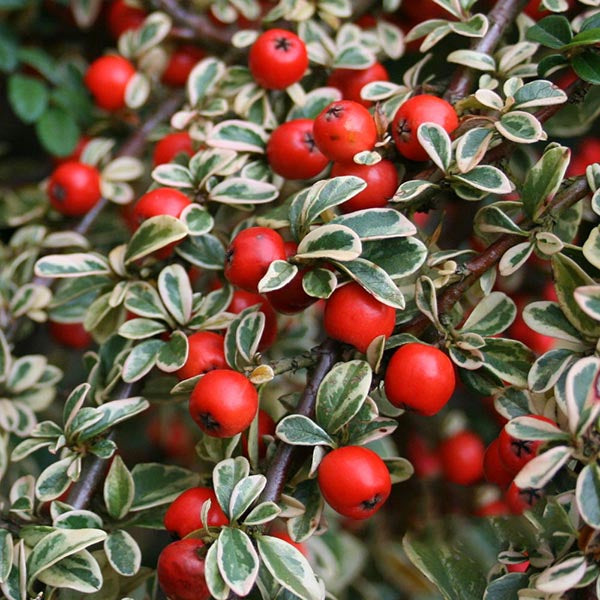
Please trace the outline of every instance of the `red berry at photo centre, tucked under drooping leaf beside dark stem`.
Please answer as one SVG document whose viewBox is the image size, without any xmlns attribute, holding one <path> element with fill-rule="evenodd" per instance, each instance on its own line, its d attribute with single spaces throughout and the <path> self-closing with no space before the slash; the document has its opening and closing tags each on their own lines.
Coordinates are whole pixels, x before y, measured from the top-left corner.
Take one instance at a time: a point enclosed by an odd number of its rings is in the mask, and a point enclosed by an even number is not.
<svg viewBox="0 0 600 600">
<path fill-rule="evenodd" d="M 366 352 L 376 337 L 392 335 L 396 311 L 352 282 L 331 294 L 325 304 L 323 324 L 329 337 Z"/>
</svg>

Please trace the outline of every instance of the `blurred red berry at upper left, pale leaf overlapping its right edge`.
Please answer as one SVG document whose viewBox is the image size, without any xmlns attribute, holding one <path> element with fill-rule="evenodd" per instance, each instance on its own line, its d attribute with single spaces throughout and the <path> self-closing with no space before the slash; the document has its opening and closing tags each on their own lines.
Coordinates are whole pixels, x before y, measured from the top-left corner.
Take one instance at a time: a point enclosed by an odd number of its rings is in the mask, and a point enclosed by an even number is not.
<svg viewBox="0 0 600 600">
<path fill-rule="evenodd" d="M 115 111 L 125 106 L 125 90 L 134 75 L 135 68 L 127 59 L 111 54 L 97 58 L 84 81 L 100 108 Z"/>
</svg>

